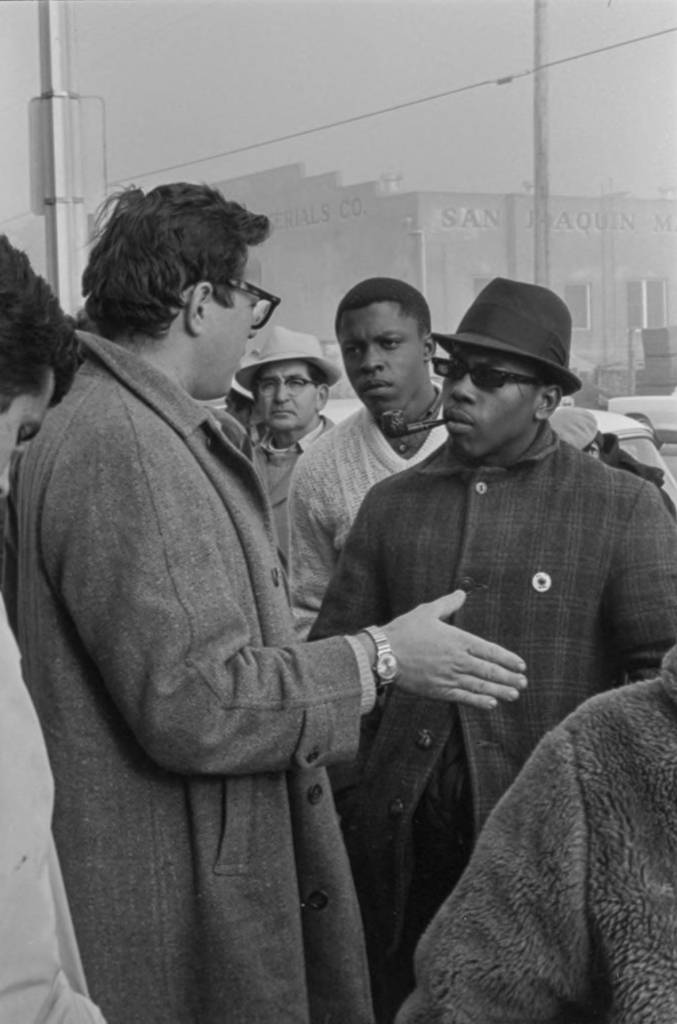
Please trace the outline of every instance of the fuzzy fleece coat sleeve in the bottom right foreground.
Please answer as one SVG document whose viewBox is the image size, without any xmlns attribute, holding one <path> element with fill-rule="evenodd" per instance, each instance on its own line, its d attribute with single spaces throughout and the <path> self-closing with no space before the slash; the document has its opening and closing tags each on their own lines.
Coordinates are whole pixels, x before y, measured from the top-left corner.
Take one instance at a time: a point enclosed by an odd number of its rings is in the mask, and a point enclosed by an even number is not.
<svg viewBox="0 0 677 1024">
<path fill-rule="evenodd" d="M 419 942 L 417 987 L 396 1024 L 590 1019 L 587 827 L 559 728 L 495 808 Z"/>
</svg>

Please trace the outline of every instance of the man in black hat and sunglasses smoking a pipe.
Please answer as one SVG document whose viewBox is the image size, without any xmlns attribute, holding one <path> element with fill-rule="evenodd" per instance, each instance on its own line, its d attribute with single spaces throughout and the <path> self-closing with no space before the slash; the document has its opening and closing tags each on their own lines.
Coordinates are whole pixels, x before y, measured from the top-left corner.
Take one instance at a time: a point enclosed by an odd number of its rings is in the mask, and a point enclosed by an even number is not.
<svg viewBox="0 0 677 1024">
<path fill-rule="evenodd" d="M 380 1021 L 540 737 L 586 697 L 654 674 L 677 624 L 677 529 L 657 488 L 560 443 L 548 423 L 580 387 L 564 303 L 496 279 L 456 334 L 434 338 L 448 441 L 369 493 L 311 636 L 386 623 L 459 587 L 455 624 L 516 651 L 528 686 L 492 710 L 390 688 L 365 723 L 358 781 L 337 797 Z"/>
</svg>

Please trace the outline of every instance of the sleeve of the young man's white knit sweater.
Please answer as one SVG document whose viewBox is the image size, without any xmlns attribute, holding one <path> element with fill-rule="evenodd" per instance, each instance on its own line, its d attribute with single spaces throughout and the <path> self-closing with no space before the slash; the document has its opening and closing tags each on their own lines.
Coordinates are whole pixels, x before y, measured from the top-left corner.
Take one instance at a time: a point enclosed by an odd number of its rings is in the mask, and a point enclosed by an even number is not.
<svg viewBox="0 0 677 1024">
<path fill-rule="evenodd" d="M 290 584 L 296 634 L 304 640 L 318 617 L 338 551 L 326 472 L 310 452 L 299 459 L 289 489 Z"/>
</svg>

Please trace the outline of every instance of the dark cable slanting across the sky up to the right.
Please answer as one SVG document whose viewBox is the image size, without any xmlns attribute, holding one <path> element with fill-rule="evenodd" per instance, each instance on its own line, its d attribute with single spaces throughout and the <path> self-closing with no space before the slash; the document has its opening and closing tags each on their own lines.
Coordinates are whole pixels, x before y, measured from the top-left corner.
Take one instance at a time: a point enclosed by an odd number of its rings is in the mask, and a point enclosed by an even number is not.
<svg viewBox="0 0 677 1024">
<path fill-rule="evenodd" d="M 622 46 L 631 46 L 635 43 L 643 43 L 647 39 L 655 39 L 658 36 L 666 36 L 671 32 L 677 32 L 677 27 L 673 29 L 663 29 L 661 32 L 651 32 L 646 36 L 636 36 L 634 39 L 625 39 L 620 43 L 610 43 L 608 46 L 600 46 L 594 50 L 586 50 L 584 53 L 575 53 L 568 57 L 561 57 L 559 60 L 548 60 L 546 63 L 526 71 L 515 72 L 512 75 L 504 75 L 501 78 L 485 78 L 481 82 L 472 82 L 468 85 L 461 85 L 455 89 L 447 89 L 445 92 L 435 92 L 430 96 L 421 96 L 419 99 L 408 99 L 392 106 L 383 106 L 378 111 L 370 111 L 367 114 L 355 114 L 349 118 L 341 118 L 340 121 L 329 121 L 326 124 L 315 125 L 312 128 L 303 128 L 299 131 L 289 132 L 286 135 L 277 135 L 274 138 L 266 138 L 260 142 L 250 142 L 248 145 L 240 145 L 235 150 L 224 150 L 222 153 L 212 153 L 208 157 L 198 157 L 196 160 L 184 160 L 180 164 L 168 164 L 166 167 L 156 167 L 152 171 L 141 171 L 138 174 L 129 174 L 127 177 L 118 178 L 113 184 L 124 184 L 126 181 L 138 178 L 147 178 L 153 174 L 162 174 L 164 171 L 176 171 L 181 167 L 195 167 L 197 164 L 206 164 L 210 160 L 219 160 L 222 157 L 234 157 L 239 153 L 250 153 L 253 150 L 260 150 L 265 145 L 273 145 L 276 142 L 288 142 L 294 138 L 303 138 L 319 131 L 326 131 L 329 128 L 341 128 L 344 125 L 356 124 L 358 121 L 366 121 L 368 118 L 377 118 L 382 114 L 392 114 L 395 111 L 404 111 L 411 106 L 419 106 L 421 103 L 429 103 L 435 99 L 443 99 L 447 96 L 456 96 L 461 92 L 470 92 L 473 89 L 481 89 L 485 85 L 508 85 L 519 78 L 527 78 L 539 71 L 548 68 L 555 68 L 559 65 L 570 63 L 573 60 L 582 60 L 585 57 L 595 56 L 598 53 L 607 53 L 609 50 L 620 49 Z"/>
</svg>

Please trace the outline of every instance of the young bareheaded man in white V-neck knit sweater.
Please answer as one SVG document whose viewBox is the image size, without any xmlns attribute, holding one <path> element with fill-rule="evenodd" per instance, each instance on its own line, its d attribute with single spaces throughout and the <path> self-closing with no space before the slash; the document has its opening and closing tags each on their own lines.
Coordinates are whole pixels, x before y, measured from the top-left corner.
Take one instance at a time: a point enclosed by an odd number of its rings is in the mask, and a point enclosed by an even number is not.
<svg viewBox="0 0 677 1024">
<path fill-rule="evenodd" d="M 312 626 L 363 498 L 379 480 L 421 462 L 446 439 L 432 430 L 387 438 L 378 417 L 401 410 L 408 423 L 440 415 L 430 379 L 434 341 L 419 291 L 370 278 L 339 303 L 336 336 L 345 372 L 364 402 L 299 459 L 289 495 L 290 575 L 296 629 Z"/>
</svg>

